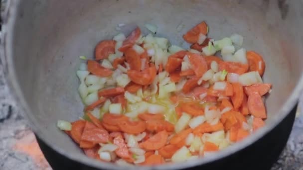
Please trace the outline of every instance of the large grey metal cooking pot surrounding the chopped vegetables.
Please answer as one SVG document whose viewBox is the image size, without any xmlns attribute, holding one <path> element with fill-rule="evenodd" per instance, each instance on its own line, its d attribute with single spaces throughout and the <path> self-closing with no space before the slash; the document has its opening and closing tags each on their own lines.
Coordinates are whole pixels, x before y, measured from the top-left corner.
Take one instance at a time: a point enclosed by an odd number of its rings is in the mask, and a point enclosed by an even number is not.
<svg viewBox="0 0 303 170">
<path fill-rule="evenodd" d="M 266 63 L 266 126 L 240 143 L 209 157 L 140 169 L 270 168 L 289 136 L 303 88 L 302 0 L 8 0 L 2 13 L 1 59 L 11 92 L 54 169 L 127 169 L 87 158 L 56 127 L 58 119 L 82 116 L 77 92 L 78 56 L 94 57 L 102 39 L 126 35 L 136 25 L 158 26 L 156 35 L 188 48 L 182 35 L 206 20 L 209 36 L 244 35 L 248 50 Z M 184 25 L 177 31 L 178 25 Z M 132 169 L 132 168 L 130 168 Z"/>
</svg>

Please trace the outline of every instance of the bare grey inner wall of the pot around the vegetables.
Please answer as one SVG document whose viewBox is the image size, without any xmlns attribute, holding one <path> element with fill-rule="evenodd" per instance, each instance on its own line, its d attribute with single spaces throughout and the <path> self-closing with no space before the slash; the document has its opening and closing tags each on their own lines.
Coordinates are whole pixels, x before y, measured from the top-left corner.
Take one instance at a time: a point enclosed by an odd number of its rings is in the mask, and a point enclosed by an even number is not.
<svg viewBox="0 0 303 170">
<path fill-rule="evenodd" d="M 93 58 L 96 43 L 117 34 L 119 23 L 127 24 L 122 28 L 125 34 L 136 25 L 148 33 L 143 24 L 154 23 L 157 36 L 187 48 L 182 35 L 206 20 L 211 38 L 239 33 L 244 35 L 244 48 L 264 57 L 264 81 L 273 84 L 266 102 L 270 123 L 280 116 L 279 109 L 303 70 L 299 55 L 303 37 L 297 34 L 303 26 L 296 22 L 302 12 L 292 2 L 288 7 L 293 10 L 282 17 L 285 9 L 276 0 L 21 1 L 13 30 L 17 81 L 44 139 L 66 153 L 79 154 L 80 149 L 56 127 L 58 119 L 74 121 L 83 114 L 75 74 L 81 62 L 78 56 Z M 177 32 L 179 24 L 185 27 Z"/>
</svg>

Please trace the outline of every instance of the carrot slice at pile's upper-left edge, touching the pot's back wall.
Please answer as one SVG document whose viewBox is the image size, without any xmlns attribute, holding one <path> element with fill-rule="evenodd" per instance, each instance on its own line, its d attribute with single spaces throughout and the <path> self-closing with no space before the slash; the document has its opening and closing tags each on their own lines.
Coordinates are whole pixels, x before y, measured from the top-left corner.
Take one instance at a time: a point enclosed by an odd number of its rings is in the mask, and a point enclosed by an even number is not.
<svg viewBox="0 0 303 170">
<path fill-rule="evenodd" d="M 115 40 L 100 41 L 95 48 L 96 60 L 106 59 L 110 54 L 115 54 Z"/>
</svg>

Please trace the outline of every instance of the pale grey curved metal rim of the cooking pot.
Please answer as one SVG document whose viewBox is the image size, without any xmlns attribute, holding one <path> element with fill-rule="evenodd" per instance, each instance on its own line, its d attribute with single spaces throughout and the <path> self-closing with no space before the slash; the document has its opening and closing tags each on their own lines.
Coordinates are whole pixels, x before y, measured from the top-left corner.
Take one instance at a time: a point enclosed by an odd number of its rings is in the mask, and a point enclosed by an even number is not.
<svg viewBox="0 0 303 170">
<path fill-rule="evenodd" d="M 65 156 L 66 158 L 73 160 L 75 162 L 79 162 L 81 164 L 94 167 L 94 168 L 100 168 L 100 169 L 132 169 L 132 167 L 119 167 L 114 164 L 110 163 L 102 163 L 100 164 L 99 161 L 89 159 L 84 154 L 69 154 L 64 152 L 63 148 L 60 148 L 58 146 L 55 146 L 54 144 L 50 143 L 47 140 L 47 136 L 39 129 L 35 122 L 37 120 L 35 119 L 35 116 L 31 113 L 31 110 L 23 96 L 23 93 L 20 89 L 20 86 L 18 85 L 16 74 L 14 70 L 13 60 L 12 60 L 12 42 L 13 42 L 13 29 L 17 18 L 17 11 L 20 9 L 20 1 L 21 0 L 7 0 L 6 4 L 6 10 L 2 13 L 3 18 L 3 25 L 2 25 L 2 32 L 0 34 L 0 57 L 2 60 L 2 64 L 4 67 L 4 77 L 7 81 L 8 87 L 10 92 L 12 93 L 13 98 L 20 106 L 21 110 L 24 111 L 23 116 L 30 122 L 30 127 L 35 132 L 35 134 L 51 149 L 56 151 L 57 153 Z M 209 157 L 205 157 L 203 159 L 197 159 L 197 160 L 191 160 L 183 163 L 174 163 L 174 164 L 165 164 L 161 166 L 156 167 L 140 167 L 142 170 L 166 170 L 166 169 L 184 169 L 184 168 L 190 168 L 195 167 L 203 164 L 207 164 L 222 158 L 225 158 L 229 155 L 232 155 L 249 145 L 255 143 L 259 139 L 261 139 L 264 135 L 269 133 L 272 129 L 274 129 L 292 110 L 292 108 L 297 103 L 299 96 L 301 94 L 301 91 L 303 89 L 303 75 L 301 75 L 300 80 L 298 81 L 298 84 L 293 89 L 290 97 L 288 100 L 283 104 L 281 107 L 279 114 L 280 117 L 275 117 L 269 124 L 266 124 L 265 127 L 258 130 L 256 133 L 250 135 L 248 138 L 244 139 L 243 141 L 237 143 L 236 145 L 229 146 L 223 151 L 220 151 L 219 153 L 216 153 L 214 155 L 210 155 Z"/>
</svg>

